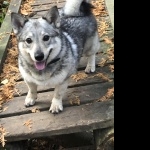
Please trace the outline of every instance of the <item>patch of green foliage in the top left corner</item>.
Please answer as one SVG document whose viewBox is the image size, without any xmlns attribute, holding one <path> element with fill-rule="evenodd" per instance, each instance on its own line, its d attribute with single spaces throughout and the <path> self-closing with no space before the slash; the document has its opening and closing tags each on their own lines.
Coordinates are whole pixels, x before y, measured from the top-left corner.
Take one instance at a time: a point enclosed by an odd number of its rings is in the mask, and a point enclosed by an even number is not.
<svg viewBox="0 0 150 150">
<path fill-rule="evenodd" d="M 2 25 L 4 18 L 5 18 L 8 6 L 9 6 L 8 1 L 0 0 L 0 27 Z"/>
</svg>

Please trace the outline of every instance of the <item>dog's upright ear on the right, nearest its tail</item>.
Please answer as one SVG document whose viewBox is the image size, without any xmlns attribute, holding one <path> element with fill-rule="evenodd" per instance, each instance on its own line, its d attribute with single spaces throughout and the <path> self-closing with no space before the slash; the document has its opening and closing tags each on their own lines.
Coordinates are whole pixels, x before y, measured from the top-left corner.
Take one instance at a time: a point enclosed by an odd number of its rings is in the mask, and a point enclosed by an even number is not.
<svg viewBox="0 0 150 150">
<path fill-rule="evenodd" d="M 53 6 L 43 18 L 46 19 L 50 24 L 54 25 L 56 28 L 60 27 L 60 16 L 57 6 Z"/>
</svg>

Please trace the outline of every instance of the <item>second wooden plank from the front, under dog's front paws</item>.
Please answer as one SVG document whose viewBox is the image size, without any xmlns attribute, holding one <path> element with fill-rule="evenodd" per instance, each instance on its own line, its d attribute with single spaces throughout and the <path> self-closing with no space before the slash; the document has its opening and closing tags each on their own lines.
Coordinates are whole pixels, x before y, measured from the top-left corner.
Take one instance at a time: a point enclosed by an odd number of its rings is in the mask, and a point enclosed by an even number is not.
<svg viewBox="0 0 150 150">
<path fill-rule="evenodd" d="M 106 82 L 88 86 L 69 88 L 63 98 L 64 109 L 66 109 L 65 107 L 78 105 L 76 97 L 79 98 L 81 104 L 96 101 L 106 94 L 108 88 L 112 88 L 113 86 L 113 82 Z M 10 102 L 3 105 L 3 108 L 7 107 L 7 110 L 0 113 L 0 118 L 31 113 L 31 110 L 33 108 L 48 111 L 52 97 L 53 91 L 38 93 L 38 99 L 36 100 L 36 104 L 32 107 L 27 108 L 24 106 L 25 96 L 15 97 Z M 74 104 L 71 104 L 71 102 L 74 102 Z"/>
</svg>

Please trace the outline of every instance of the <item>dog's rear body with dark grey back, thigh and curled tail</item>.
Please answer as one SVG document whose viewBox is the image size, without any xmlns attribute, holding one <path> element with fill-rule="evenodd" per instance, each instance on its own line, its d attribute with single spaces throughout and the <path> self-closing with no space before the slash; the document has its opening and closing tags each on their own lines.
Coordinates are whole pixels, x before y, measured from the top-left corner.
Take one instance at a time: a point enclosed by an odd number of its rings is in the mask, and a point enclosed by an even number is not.
<svg viewBox="0 0 150 150">
<path fill-rule="evenodd" d="M 76 0 L 72 0 L 72 3 L 68 3 L 67 0 L 63 8 L 64 13 L 62 13 L 61 17 L 61 29 L 67 32 L 78 45 L 78 53 L 79 57 L 81 57 L 83 52 L 85 55 L 89 55 L 89 51 L 90 53 L 98 51 L 100 43 L 97 32 L 97 22 L 92 14 L 93 6 L 89 3 L 89 0 L 79 0 L 77 4 L 81 3 L 80 7 L 79 9 L 75 9 L 75 6 L 78 7 L 78 5 L 74 5 L 75 1 Z M 69 9 L 69 6 L 73 9 Z M 93 47 L 93 42 L 97 48 L 95 48 L 95 46 Z"/>
</svg>

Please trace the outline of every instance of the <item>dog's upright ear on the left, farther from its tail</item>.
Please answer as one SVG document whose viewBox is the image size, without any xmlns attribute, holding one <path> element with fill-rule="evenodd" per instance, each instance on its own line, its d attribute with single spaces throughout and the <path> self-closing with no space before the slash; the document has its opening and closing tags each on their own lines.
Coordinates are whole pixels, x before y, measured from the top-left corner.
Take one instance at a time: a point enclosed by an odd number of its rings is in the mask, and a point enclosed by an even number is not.
<svg viewBox="0 0 150 150">
<path fill-rule="evenodd" d="M 21 16 L 20 14 L 15 12 L 11 13 L 11 24 L 15 34 L 18 34 L 21 31 L 27 21 L 28 19 Z"/>
</svg>

